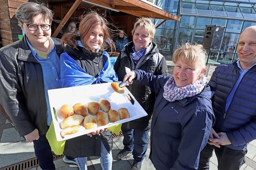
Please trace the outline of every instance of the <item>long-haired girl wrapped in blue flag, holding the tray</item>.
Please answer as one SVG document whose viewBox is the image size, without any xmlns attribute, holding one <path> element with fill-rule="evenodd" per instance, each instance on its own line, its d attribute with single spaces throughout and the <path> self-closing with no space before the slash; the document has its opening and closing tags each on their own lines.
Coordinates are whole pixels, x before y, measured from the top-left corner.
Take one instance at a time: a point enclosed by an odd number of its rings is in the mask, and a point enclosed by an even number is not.
<svg viewBox="0 0 256 170">
<path fill-rule="evenodd" d="M 65 34 L 65 46 L 60 56 L 60 86 L 73 87 L 117 81 L 109 55 L 104 49 L 111 39 L 106 19 L 91 11 L 81 20 L 79 33 Z M 114 43 L 109 44 L 114 49 Z M 89 135 L 89 136 L 87 136 Z M 112 132 L 107 129 L 66 140 L 63 161 L 75 163 L 80 170 L 87 169 L 87 157 L 99 156 L 103 170 L 112 168 Z"/>
</svg>

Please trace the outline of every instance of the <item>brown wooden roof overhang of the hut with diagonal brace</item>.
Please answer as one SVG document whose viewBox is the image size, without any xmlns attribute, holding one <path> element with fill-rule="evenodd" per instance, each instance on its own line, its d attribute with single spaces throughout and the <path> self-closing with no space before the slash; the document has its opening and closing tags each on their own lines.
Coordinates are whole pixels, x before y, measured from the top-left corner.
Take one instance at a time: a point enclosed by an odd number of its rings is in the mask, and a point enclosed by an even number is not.
<svg viewBox="0 0 256 170">
<path fill-rule="evenodd" d="M 65 3 L 65 6 L 70 6 L 70 10 L 65 15 L 65 17 L 60 22 L 60 25 L 55 30 L 53 37 L 56 37 L 60 32 L 62 27 L 66 24 L 72 13 L 78 7 L 84 7 L 86 4 L 96 5 L 99 7 L 105 7 L 110 11 L 121 11 L 124 13 L 128 13 L 137 17 L 151 17 L 156 19 L 164 19 L 164 20 L 175 20 L 180 21 L 181 17 L 177 15 L 173 15 L 167 11 L 164 11 L 162 8 L 150 3 L 146 0 L 76 0 L 75 2 L 70 3 L 70 1 L 66 0 L 49 0 L 49 3 L 61 4 L 61 2 Z M 64 5 L 64 4 L 63 4 Z"/>
</svg>

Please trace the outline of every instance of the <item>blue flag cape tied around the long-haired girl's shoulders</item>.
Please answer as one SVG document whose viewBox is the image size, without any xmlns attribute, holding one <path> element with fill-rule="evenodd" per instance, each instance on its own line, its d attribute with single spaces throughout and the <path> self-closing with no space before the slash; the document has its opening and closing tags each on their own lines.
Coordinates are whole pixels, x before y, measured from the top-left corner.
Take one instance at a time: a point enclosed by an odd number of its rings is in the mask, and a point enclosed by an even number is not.
<svg viewBox="0 0 256 170">
<path fill-rule="evenodd" d="M 103 69 L 98 73 L 98 77 L 93 77 L 86 73 L 67 52 L 62 53 L 60 55 L 60 88 L 118 81 L 106 51 L 103 51 L 104 60 L 106 62 Z"/>
</svg>

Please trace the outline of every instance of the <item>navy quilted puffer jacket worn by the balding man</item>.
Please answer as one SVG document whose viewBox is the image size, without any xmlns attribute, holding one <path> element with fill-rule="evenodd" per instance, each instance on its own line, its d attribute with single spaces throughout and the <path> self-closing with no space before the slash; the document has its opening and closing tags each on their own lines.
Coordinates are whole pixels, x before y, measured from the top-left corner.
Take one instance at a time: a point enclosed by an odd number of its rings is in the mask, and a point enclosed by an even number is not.
<svg viewBox="0 0 256 170">
<path fill-rule="evenodd" d="M 216 91 L 213 98 L 213 112 L 216 122 L 213 129 L 225 132 L 229 148 L 242 150 L 249 142 L 256 139 L 256 66 L 252 67 L 238 85 L 227 112 L 227 96 L 232 91 L 239 77 L 236 61 L 216 67 L 209 85 Z M 224 116 L 225 115 L 225 116 Z"/>
</svg>

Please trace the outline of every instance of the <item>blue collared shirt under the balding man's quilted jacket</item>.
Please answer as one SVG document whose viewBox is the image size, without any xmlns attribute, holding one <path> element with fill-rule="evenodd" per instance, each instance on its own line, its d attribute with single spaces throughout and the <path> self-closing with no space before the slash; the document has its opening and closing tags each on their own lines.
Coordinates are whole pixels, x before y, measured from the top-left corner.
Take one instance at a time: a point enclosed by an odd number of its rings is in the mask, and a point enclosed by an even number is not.
<svg viewBox="0 0 256 170">
<path fill-rule="evenodd" d="M 227 97 L 226 107 L 225 107 L 225 113 L 227 112 L 227 108 L 229 107 L 229 105 L 230 105 L 230 103 L 231 103 L 231 101 L 232 101 L 232 98 L 233 98 L 233 96 L 234 96 L 234 94 L 235 94 L 235 91 L 236 91 L 236 89 L 238 88 L 238 85 L 240 84 L 242 78 L 244 77 L 244 75 L 245 75 L 254 65 L 256 65 L 256 63 L 255 63 L 255 64 L 254 64 L 252 67 L 250 67 L 249 69 L 243 70 L 242 67 L 240 66 L 240 59 L 238 59 L 238 60 L 236 61 L 236 63 L 237 63 L 237 66 L 239 67 L 239 77 L 238 77 L 238 79 L 237 79 L 237 81 L 236 81 L 236 84 L 234 85 L 232 91 L 230 92 L 230 94 L 229 94 L 228 97 Z"/>
</svg>

